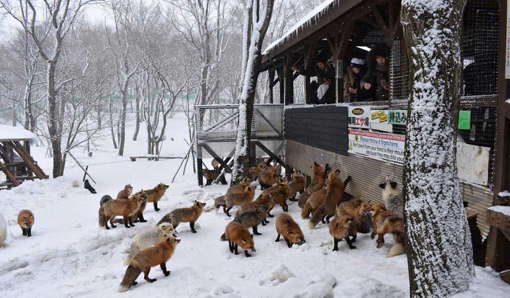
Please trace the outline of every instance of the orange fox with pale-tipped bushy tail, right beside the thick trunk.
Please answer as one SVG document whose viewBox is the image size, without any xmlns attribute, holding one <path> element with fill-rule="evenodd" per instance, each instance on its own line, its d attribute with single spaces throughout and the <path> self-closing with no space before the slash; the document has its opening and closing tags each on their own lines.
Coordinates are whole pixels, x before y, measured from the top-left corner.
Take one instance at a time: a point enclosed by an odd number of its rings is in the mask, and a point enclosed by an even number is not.
<svg viewBox="0 0 510 298">
<path fill-rule="evenodd" d="M 405 251 L 403 243 L 405 235 L 404 220 L 397 217 L 395 213 L 386 211 L 384 204 L 381 203 L 374 204 L 371 212 L 374 232 L 370 237 L 373 239 L 375 234 L 377 234 L 377 248 L 380 249 L 384 245 L 384 235 L 392 233 L 395 244 L 393 244 L 386 257 L 389 258 L 402 254 Z"/>
</svg>

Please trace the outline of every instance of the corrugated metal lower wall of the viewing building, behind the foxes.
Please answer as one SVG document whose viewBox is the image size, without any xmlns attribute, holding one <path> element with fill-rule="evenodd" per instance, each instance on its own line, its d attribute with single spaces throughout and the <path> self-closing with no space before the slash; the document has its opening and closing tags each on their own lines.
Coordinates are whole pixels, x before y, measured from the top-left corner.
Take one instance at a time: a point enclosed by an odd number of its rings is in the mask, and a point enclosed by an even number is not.
<svg viewBox="0 0 510 298">
<path fill-rule="evenodd" d="M 310 167 L 314 161 L 323 165 L 328 163 L 332 168 L 339 168 L 342 179 L 347 178 L 347 175 L 352 176 L 346 191 L 363 200 L 382 203 L 379 184 L 385 181 L 387 175 L 398 182 L 399 188 L 402 186 L 403 167 L 400 164 L 361 155 L 343 156 L 290 140 L 286 141 L 285 155 L 288 165 L 308 176 L 312 175 Z M 489 233 L 486 212 L 491 207 L 494 193 L 488 188 L 464 182 L 461 182 L 460 187 L 464 200 L 469 203 L 469 208 L 478 212 L 478 228 L 482 237 L 485 238 Z"/>
</svg>

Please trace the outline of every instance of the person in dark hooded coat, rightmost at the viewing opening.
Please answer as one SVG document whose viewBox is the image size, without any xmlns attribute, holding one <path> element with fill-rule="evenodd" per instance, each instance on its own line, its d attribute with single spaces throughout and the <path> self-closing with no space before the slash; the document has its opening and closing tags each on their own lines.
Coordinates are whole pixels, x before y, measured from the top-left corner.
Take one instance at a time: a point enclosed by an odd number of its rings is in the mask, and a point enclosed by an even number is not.
<svg viewBox="0 0 510 298">
<path fill-rule="evenodd" d="M 361 88 L 367 92 L 376 92 L 377 101 L 387 101 L 389 97 L 388 48 L 378 46 L 368 53 L 368 71 L 361 80 Z"/>
</svg>

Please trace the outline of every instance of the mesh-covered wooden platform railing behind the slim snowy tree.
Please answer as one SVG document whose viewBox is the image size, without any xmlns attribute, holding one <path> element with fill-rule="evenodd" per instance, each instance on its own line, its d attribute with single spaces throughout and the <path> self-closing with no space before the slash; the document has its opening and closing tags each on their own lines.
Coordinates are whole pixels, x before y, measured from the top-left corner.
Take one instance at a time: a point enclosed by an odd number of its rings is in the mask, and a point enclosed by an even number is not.
<svg viewBox="0 0 510 298">
<path fill-rule="evenodd" d="M 238 105 L 195 106 L 196 147 L 198 158 L 215 155 L 225 158 L 234 156 L 239 126 Z M 260 104 L 253 106 L 251 140 L 261 141 L 271 152 L 283 155 L 284 105 Z M 257 147 L 257 156 L 266 154 Z"/>
</svg>

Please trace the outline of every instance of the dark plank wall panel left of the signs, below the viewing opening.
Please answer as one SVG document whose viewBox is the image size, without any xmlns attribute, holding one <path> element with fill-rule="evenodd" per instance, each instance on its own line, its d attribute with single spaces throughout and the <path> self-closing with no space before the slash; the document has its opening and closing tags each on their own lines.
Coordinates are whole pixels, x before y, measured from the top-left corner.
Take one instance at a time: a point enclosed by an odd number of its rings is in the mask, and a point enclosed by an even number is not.
<svg viewBox="0 0 510 298">
<path fill-rule="evenodd" d="M 288 140 L 347 155 L 347 107 L 286 109 L 284 132 Z"/>
</svg>

